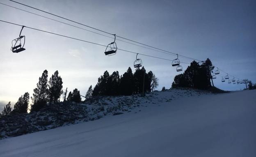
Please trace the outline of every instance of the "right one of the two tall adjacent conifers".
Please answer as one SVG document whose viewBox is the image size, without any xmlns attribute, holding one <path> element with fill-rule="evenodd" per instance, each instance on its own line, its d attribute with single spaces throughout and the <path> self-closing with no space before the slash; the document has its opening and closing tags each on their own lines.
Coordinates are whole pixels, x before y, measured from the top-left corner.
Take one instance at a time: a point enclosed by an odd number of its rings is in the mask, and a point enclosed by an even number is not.
<svg viewBox="0 0 256 157">
<path fill-rule="evenodd" d="M 47 93 L 48 102 L 50 104 L 56 103 L 59 101 L 60 95 L 62 95 L 62 78 L 59 76 L 59 72 L 55 71 L 55 73 L 50 77 L 49 80 L 49 90 Z"/>
</svg>

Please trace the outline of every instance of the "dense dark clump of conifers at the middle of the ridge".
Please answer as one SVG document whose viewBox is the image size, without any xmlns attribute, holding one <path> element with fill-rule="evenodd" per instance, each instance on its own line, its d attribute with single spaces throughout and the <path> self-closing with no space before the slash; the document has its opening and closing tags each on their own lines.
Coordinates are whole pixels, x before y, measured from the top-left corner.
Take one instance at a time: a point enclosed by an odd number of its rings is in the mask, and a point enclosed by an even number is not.
<svg viewBox="0 0 256 157">
<path fill-rule="evenodd" d="M 145 73 L 144 91 L 151 91 L 151 82 L 153 81 L 153 73 L 146 73 L 144 67 L 136 69 L 133 74 L 132 69 L 119 76 L 118 71 L 114 71 L 111 75 L 107 71 L 98 78 L 98 82 L 92 91 L 92 96 L 97 95 L 133 95 L 142 93 L 143 79 Z"/>
</svg>

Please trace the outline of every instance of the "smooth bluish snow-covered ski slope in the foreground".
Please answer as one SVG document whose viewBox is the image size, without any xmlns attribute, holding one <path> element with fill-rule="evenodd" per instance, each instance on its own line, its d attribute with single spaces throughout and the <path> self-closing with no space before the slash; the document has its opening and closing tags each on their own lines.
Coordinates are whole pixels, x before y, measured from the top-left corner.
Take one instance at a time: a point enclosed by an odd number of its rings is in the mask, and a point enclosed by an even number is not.
<svg viewBox="0 0 256 157">
<path fill-rule="evenodd" d="M 0 156 L 255 157 L 255 96 L 252 90 L 144 102 L 140 112 L 0 140 Z"/>
</svg>

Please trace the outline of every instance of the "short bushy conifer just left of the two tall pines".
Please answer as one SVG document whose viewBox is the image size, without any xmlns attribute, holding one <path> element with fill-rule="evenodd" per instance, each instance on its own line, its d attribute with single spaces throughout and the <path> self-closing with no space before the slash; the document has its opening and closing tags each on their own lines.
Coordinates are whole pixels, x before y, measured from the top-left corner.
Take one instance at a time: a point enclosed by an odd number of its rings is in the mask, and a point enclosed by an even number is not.
<svg viewBox="0 0 256 157">
<path fill-rule="evenodd" d="M 14 110 L 12 111 L 13 113 L 27 113 L 27 108 L 29 104 L 29 93 L 26 92 L 24 95 L 21 95 L 19 97 L 18 102 L 14 104 Z"/>
</svg>

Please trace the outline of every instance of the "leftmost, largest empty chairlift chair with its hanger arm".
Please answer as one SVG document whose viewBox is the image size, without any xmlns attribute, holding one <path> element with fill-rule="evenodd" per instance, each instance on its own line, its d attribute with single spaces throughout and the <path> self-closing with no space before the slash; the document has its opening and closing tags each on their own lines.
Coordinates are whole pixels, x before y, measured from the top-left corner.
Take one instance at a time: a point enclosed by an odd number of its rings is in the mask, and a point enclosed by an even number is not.
<svg viewBox="0 0 256 157">
<path fill-rule="evenodd" d="M 24 26 L 22 27 L 21 31 L 23 30 L 23 28 L 24 28 Z M 22 42 L 21 39 L 23 39 L 23 38 L 24 38 L 24 40 Z M 11 42 L 11 51 L 13 53 L 19 53 L 21 51 L 24 51 L 25 50 L 25 48 L 23 48 L 24 45 L 25 45 L 25 35 L 21 35 L 21 32 L 20 32 L 19 37 L 12 40 L 12 42 Z"/>
</svg>

